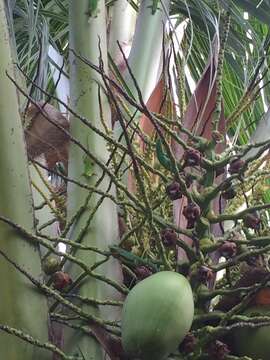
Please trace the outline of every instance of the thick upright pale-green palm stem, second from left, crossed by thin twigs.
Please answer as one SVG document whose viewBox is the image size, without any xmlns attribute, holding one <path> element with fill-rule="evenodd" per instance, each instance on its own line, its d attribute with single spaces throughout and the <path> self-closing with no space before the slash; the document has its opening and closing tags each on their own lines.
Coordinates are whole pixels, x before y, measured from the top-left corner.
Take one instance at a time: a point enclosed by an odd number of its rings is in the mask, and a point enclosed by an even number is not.
<svg viewBox="0 0 270 360">
<path fill-rule="evenodd" d="M 104 68 L 107 69 L 107 47 L 106 47 L 106 16 L 105 4 L 102 0 L 97 3 L 96 11 L 89 12 L 89 1 L 70 0 L 70 48 L 76 53 L 86 57 L 96 65 L 99 63 L 99 46 L 102 52 Z M 92 16 L 91 16 L 92 15 Z M 100 41 L 100 43 L 99 43 Z M 70 53 L 70 85 L 71 85 L 71 107 L 80 115 L 85 116 L 93 125 L 104 130 L 101 123 L 101 102 L 103 121 L 110 127 L 110 109 L 108 101 L 101 93 L 100 100 L 98 97 L 101 78 L 96 71 L 76 58 L 73 52 Z M 103 163 L 108 159 L 106 143 L 93 132 L 90 128 L 83 125 L 75 117 L 71 117 L 71 135 L 74 136 L 82 145 Z M 73 179 L 95 185 L 102 175 L 101 169 L 94 165 L 91 159 L 86 158 L 85 154 L 71 144 L 69 154 L 69 176 Z M 108 176 L 104 176 L 100 181 L 99 188 L 107 191 L 109 185 Z M 110 189 L 113 191 L 113 187 Z M 89 198 L 85 210 L 80 218 L 73 225 L 70 238 L 77 239 L 79 234 L 83 234 L 81 242 L 86 246 L 98 246 L 99 248 L 108 248 L 116 244 L 118 240 L 118 222 L 116 205 L 109 199 L 103 198 L 95 193 L 89 196 L 89 191 L 82 189 L 74 184 L 68 184 L 68 219 L 77 213 L 78 209 L 85 204 Z M 100 204 L 98 202 L 100 201 Z M 98 207 L 98 208 L 97 208 Z M 93 210 L 97 211 L 93 213 Z M 94 214 L 94 216 L 93 216 Z M 77 250 L 75 255 L 83 260 L 89 267 L 97 261 L 104 259 L 97 253 Z M 98 272 L 109 276 L 110 278 L 119 279 L 120 268 L 115 260 L 109 260 L 100 267 Z M 68 263 L 66 266 L 73 279 L 77 279 L 81 274 L 78 266 Z M 85 277 L 81 284 L 77 286 L 77 293 L 80 296 L 99 299 L 112 299 L 115 297 L 115 290 L 108 284 L 101 282 L 93 277 Z M 117 295 L 118 296 L 118 295 Z M 93 315 L 100 316 L 101 310 L 97 306 L 82 305 L 84 311 Z M 117 319 L 119 311 L 110 306 L 103 307 L 102 315 L 110 314 L 110 319 Z M 106 313 L 106 314 L 104 314 Z M 108 317 L 106 318 L 108 319 Z M 69 355 L 80 354 L 79 349 L 85 357 L 89 359 L 103 359 L 103 352 L 99 343 L 79 332 L 78 330 L 68 329 L 65 331 L 65 350 Z"/>
</svg>

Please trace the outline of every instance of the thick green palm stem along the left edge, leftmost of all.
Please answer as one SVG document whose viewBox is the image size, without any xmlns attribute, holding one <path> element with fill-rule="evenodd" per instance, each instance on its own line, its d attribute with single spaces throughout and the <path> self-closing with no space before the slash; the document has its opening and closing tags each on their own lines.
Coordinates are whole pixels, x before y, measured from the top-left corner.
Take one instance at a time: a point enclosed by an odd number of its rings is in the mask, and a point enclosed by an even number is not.
<svg viewBox="0 0 270 360">
<path fill-rule="evenodd" d="M 0 214 L 33 231 L 34 216 L 23 129 L 17 91 L 6 72 L 15 77 L 9 44 L 4 1 L 0 1 Z M 0 224 L 0 247 L 13 261 L 36 278 L 41 275 L 40 253 L 17 231 Z M 46 342 L 48 340 L 48 308 L 46 298 L 7 261 L 0 262 L 0 323 L 15 327 Z M 16 337 L 0 332 L 3 359 L 49 360 L 51 355 Z"/>
</svg>

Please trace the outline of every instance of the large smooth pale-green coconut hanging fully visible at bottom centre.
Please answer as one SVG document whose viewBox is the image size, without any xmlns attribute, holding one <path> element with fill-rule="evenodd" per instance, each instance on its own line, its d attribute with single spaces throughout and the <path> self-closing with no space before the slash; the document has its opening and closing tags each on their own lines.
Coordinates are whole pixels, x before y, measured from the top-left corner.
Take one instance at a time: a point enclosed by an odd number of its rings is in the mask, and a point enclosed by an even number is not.
<svg viewBox="0 0 270 360">
<path fill-rule="evenodd" d="M 188 280 L 161 271 L 138 283 L 127 296 L 122 313 L 125 352 L 141 360 L 163 360 L 190 330 L 194 301 Z"/>
</svg>

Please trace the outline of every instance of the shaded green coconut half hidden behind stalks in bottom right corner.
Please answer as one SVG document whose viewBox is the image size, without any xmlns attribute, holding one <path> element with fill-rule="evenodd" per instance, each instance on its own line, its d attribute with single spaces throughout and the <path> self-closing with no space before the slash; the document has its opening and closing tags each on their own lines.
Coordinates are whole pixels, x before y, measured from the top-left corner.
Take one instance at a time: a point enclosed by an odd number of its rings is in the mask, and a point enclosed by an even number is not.
<svg viewBox="0 0 270 360">
<path fill-rule="evenodd" d="M 251 307 L 243 315 L 270 316 L 270 305 Z M 236 329 L 233 339 L 238 355 L 248 356 L 254 360 L 270 359 L 270 326 Z"/>
</svg>

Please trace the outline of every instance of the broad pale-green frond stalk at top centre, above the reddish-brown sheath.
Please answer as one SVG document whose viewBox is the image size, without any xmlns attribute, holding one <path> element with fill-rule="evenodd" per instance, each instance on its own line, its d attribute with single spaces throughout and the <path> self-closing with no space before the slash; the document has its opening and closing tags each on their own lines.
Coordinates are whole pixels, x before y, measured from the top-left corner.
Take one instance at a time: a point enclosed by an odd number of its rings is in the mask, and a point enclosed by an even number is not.
<svg viewBox="0 0 270 360">
<path fill-rule="evenodd" d="M 163 6 L 168 11 L 169 1 L 163 1 L 162 4 L 157 0 L 143 0 L 141 2 L 132 47 L 128 57 L 130 69 L 145 102 L 157 84 L 160 62 L 162 61 L 162 42 L 166 23 L 166 12 Z M 134 98 L 138 100 L 136 86 L 127 69 L 124 72 L 124 80 Z M 128 110 L 132 116 L 134 108 L 129 105 Z M 137 122 L 139 118 L 140 113 L 138 112 L 134 121 Z M 114 126 L 115 138 L 118 139 L 122 132 L 122 126 L 117 121 Z M 122 142 L 125 142 L 124 137 Z M 124 175 L 123 181 L 128 182 L 127 173 Z"/>
</svg>

